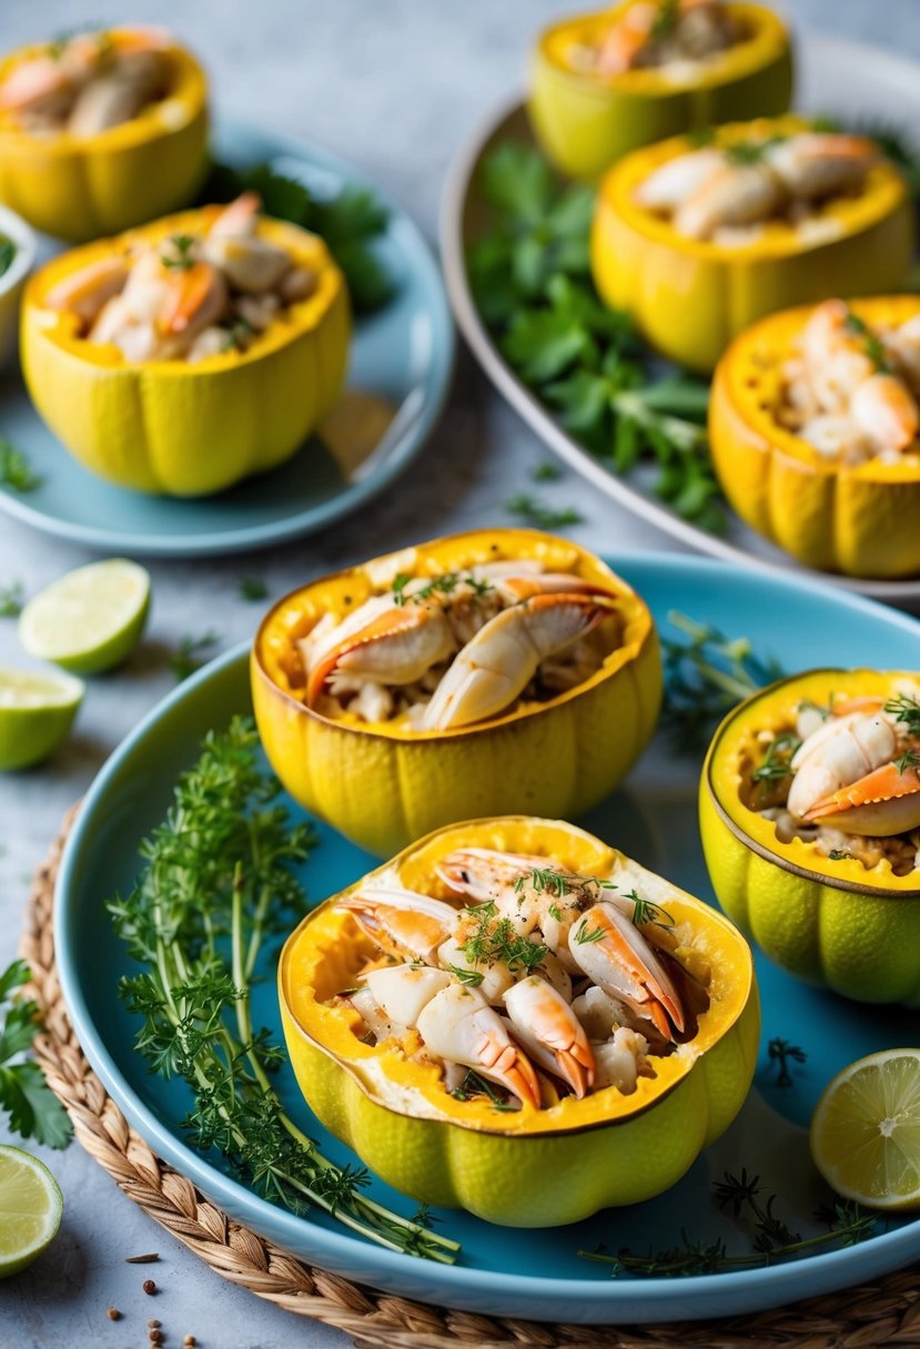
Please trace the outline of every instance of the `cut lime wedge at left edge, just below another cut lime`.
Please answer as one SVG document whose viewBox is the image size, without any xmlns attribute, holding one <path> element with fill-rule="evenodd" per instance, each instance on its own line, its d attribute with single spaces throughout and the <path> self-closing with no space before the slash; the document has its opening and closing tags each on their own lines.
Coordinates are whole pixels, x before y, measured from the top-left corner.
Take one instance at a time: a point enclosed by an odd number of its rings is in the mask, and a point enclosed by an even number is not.
<svg viewBox="0 0 920 1349">
<path fill-rule="evenodd" d="M 62 745 L 84 692 L 71 674 L 0 666 L 0 772 L 30 768 Z"/>
</svg>

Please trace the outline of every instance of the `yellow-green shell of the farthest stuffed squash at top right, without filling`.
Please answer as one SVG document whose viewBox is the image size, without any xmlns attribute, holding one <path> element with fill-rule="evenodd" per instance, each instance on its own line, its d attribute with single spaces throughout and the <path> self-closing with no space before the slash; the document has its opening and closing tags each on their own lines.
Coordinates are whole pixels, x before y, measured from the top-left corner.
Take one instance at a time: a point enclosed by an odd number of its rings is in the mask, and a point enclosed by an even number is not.
<svg viewBox="0 0 920 1349">
<path fill-rule="evenodd" d="M 534 46 L 527 112 L 541 148 L 563 173 L 595 179 L 630 150 L 665 136 L 788 111 L 789 32 L 778 15 L 757 4 L 726 5 L 749 38 L 691 77 L 654 67 L 614 77 L 572 69 L 572 47 L 594 43 L 633 3 L 564 19 Z"/>
</svg>

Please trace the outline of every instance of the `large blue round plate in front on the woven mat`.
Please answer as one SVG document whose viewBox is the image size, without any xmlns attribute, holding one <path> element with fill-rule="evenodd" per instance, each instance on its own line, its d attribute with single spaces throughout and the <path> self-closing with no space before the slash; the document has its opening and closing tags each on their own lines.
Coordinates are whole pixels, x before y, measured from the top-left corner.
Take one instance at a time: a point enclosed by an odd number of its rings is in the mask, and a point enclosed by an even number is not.
<svg viewBox="0 0 920 1349">
<path fill-rule="evenodd" d="M 758 654 L 777 657 L 789 672 L 834 664 L 920 669 L 915 619 L 830 587 L 689 557 L 630 556 L 614 565 L 645 596 L 665 633 L 668 612 L 676 608 L 727 634 L 751 637 Z M 680 1184 L 653 1202 L 607 1210 L 575 1228 L 514 1233 L 444 1211 L 440 1230 L 463 1242 L 461 1263 L 449 1268 L 384 1252 L 324 1215 L 301 1218 L 275 1209 L 232 1179 L 219 1157 L 190 1149 L 179 1128 L 189 1103 L 185 1087 L 150 1077 L 132 1048 L 135 1018 L 116 993 L 119 975 L 131 962 L 103 904 L 131 886 L 138 842 L 162 817 L 173 782 L 196 758 L 205 731 L 224 727 L 232 714 L 250 707 L 247 653 L 237 650 L 183 684 L 128 737 L 85 800 L 63 857 L 55 904 L 63 994 L 93 1067 L 154 1151 L 216 1203 L 305 1260 L 352 1279 L 441 1306 L 538 1319 L 629 1323 L 755 1311 L 851 1287 L 920 1257 L 920 1221 L 880 1219 L 877 1234 L 862 1245 L 741 1272 L 611 1279 L 603 1265 L 577 1259 L 579 1248 L 594 1249 L 602 1241 L 611 1251 L 629 1245 L 635 1252 L 677 1244 L 681 1229 L 706 1242 L 723 1237 L 731 1251 L 750 1252 L 750 1232 L 711 1201 L 711 1182 L 741 1167 L 776 1191 L 776 1213 L 789 1226 L 803 1234 L 820 1230 L 812 1211 L 830 1193 L 811 1166 L 804 1129 L 817 1095 L 853 1059 L 920 1044 L 920 1016 L 865 1008 L 808 989 L 762 958 L 764 1047 L 755 1090 L 728 1133 Z M 696 828 L 699 766 L 699 759 L 676 758 L 658 738 L 627 785 L 581 823 L 691 893 L 712 900 Z M 332 830 L 321 827 L 320 832 L 322 842 L 305 867 L 317 901 L 356 880 L 372 862 Z M 271 965 L 266 959 L 256 1024 L 270 1025 L 281 1039 Z M 788 1089 L 776 1085 L 766 1055 L 774 1036 L 808 1054 L 805 1064 L 793 1066 Z M 330 1156 L 352 1159 L 309 1114 L 290 1071 L 281 1074 L 279 1086 L 306 1132 Z M 410 1201 L 380 1183 L 371 1193 L 401 1211 L 413 1210 Z"/>
</svg>

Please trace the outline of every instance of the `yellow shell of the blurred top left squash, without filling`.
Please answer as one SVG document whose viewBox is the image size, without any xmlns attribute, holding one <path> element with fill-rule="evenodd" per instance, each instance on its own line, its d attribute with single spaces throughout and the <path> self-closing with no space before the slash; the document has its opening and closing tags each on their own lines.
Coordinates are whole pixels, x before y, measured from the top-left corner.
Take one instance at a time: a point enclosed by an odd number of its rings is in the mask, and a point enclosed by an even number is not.
<svg viewBox="0 0 920 1349">
<path fill-rule="evenodd" d="M 117 46 L 131 28 L 109 28 Z M 0 81 L 47 43 L 0 61 Z M 94 136 L 31 135 L 0 112 L 0 201 L 36 229 L 82 243 L 140 225 L 188 204 L 206 171 L 208 81 L 194 57 L 170 42 L 167 98 Z"/>
</svg>

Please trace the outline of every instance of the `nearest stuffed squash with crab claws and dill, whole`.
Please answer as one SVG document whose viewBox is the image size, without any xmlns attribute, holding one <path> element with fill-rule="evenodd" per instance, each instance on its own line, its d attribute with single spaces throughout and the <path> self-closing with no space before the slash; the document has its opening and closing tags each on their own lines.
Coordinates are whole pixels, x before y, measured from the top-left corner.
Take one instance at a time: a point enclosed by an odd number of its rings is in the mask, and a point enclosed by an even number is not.
<svg viewBox="0 0 920 1349">
<path fill-rule="evenodd" d="M 326 900 L 278 970 L 317 1117 L 422 1203 L 556 1226 L 674 1184 L 754 1072 L 751 955 L 591 834 L 438 830 Z"/>
</svg>

